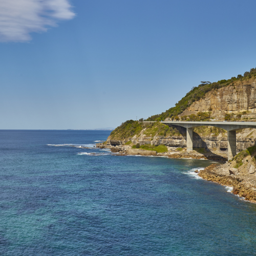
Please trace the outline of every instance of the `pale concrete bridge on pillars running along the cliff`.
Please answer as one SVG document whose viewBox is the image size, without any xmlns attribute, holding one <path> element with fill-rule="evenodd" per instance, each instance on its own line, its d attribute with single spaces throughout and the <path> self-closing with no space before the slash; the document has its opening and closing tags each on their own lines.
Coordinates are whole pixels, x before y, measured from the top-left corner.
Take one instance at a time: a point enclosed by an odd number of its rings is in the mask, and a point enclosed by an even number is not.
<svg viewBox="0 0 256 256">
<path fill-rule="evenodd" d="M 152 123 L 153 121 L 144 121 Z M 208 125 L 222 128 L 227 131 L 227 158 L 232 159 L 237 155 L 237 137 L 236 131 L 245 128 L 256 128 L 256 122 L 201 122 L 201 121 L 162 121 L 167 125 L 178 125 L 187 129 L 187 151 L 193 150 L 193 127 Z"/>
</svg>

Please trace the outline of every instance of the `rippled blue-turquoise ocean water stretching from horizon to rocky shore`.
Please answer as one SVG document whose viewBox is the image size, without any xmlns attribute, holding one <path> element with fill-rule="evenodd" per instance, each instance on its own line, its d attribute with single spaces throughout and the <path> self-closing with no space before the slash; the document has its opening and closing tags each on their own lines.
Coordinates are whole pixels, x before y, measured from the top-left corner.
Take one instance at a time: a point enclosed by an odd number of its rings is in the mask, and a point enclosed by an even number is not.
<svg viewBox="0 0 256 256">
<path fill-rule="evenodd" d="M 256 255 L 256 205 L 197 178 L 210 161 L 93 147 L 109 134 L 0 131 L 1 255 Z"/>
</svg>

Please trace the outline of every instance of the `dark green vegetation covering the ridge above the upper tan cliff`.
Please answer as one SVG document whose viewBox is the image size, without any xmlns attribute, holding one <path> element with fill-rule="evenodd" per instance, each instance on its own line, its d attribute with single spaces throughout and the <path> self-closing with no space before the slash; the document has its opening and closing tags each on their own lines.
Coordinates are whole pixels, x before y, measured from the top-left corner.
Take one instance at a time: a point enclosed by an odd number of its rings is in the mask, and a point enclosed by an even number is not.
<svg viewBox="0 0 256 256">
<path fill-rule="evenodd" d="M 166 118 L 176 119 L 179 114 L 181 114 L 188 106 L 193 102 L 204 98 L 205 94 L 209 91 L 216 90 L 226 86 L 233 86 L 234 82 L 237 80 L 246 80 L 253 76 L 256 76 L 256 68 L 251 69 L 250 72 L 245 72 L 244 76 L 238 75 L 237 77 L 231 77 L 228 80 L 219 80 L 218 82 L 205 82 L 201 81 L 198 87 L 193 87 L 178 103 L 175 104 L 173 108 L 170 108 L 163 112 L 162 114 L 153 115 L 148 117 L 147 121 L 161 121 Z"/>
</svg>

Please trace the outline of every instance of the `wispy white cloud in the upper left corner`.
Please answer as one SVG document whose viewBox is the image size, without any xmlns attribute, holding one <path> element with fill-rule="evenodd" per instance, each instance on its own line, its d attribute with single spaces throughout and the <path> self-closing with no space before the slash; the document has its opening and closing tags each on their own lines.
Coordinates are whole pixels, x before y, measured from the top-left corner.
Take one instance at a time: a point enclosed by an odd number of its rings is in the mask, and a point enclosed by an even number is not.
<svg viewBox="0 0 256 256">
<path fill-rule="evenodd" d="M 30 33 L 47 31 L 72 19 L 69 0 L 0 0 L 0 41 L 28 41 Z"/>
</svg>

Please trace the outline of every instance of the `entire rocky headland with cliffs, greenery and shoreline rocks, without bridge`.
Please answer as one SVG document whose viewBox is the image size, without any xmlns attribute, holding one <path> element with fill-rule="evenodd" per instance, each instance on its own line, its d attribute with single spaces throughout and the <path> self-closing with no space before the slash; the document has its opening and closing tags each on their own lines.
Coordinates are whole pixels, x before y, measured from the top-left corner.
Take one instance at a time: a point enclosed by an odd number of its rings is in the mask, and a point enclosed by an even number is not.
<svg viewBox="0 0 256 256">
<path fill-rule="evenodd" d="M 256 122 L 255 99 L 256 68 L 228 80 L 203 81 L 175 107 L 147 119 L 123 122 L 97 147 L 110 148 L 112 152 L 123 155 L 220 161 L 222 163 L 211 164 L 198 175 L 205 180 L 231 186 L 233 194 L 256 202 L 256 129 L 235 131 L 236 151 L 228 157 L 227 131 L 214 125 L 204 125 L 204 121 Z M 184 127 L 162 122 L 170 120 L 202 121 L 202 125 L 193 127 L 191 131 L 193 148 L 187 148 Z"/>
</svg>

